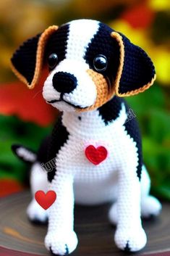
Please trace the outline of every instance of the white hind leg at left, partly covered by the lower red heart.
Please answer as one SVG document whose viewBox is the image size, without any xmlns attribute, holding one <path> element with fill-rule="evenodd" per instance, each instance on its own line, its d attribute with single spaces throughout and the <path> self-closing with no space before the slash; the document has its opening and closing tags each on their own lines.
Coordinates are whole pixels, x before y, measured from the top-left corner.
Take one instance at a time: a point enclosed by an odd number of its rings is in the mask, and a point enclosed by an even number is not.
<svg viewBox="0 0 170 256">
<path fill-rule="evenodd" d="M 38 205 L 35 200 L 35 192 L 42 190 L 46 193 L 48 190 L 47 173 L 41 166 L 40 162 L 35 162 L 31 168 L 30 173 L 30 189 L 32 194 L 32 201 L 27 207 L 27 217 L 33 223 L 46 223 L 48 219 L 48 210 Z"/>
</svg>

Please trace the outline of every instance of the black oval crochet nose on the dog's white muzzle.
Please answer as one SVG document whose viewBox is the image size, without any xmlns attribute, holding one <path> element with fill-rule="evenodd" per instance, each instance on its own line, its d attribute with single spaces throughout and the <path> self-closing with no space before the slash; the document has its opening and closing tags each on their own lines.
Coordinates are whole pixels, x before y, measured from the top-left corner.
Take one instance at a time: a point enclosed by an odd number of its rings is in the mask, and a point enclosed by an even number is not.
<svg viewBox="0 0 170 256">
<path fill-rule="evenodd" d="M 75 78 L 75 75 L 72 75 L 70 73 L 58 72 L 54 74 L 53 86 L 56 91 L 69 94 L 76 88 L 77 79 Z"/>
</svg>

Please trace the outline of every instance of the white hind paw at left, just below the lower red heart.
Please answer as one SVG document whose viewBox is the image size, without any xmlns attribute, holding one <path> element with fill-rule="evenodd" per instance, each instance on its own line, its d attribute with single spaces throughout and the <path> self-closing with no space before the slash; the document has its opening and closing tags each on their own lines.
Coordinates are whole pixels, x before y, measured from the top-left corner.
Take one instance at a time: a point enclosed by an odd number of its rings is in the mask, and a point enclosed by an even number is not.
<svg viewBox="0 0 170 256">
<path fill-rule="evenodd" d="M 38 205 L 38 202 L 36 202 L 34 199 L 27 207 L 27 217 L 31 222 L 36 224 L 47 223 L 48 220 L 47 211 Z"/>
</svg>

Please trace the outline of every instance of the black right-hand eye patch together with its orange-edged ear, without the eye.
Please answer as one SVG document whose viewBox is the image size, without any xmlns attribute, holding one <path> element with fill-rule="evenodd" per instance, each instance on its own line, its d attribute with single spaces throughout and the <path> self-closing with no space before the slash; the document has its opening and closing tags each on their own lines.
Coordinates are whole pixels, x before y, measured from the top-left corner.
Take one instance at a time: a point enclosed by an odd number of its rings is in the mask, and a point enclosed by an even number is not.
<svg viewBox="0 0 170 256">
<path fill-rule="evenodd" d="M 106 70 L 101 72 L 93 65 L 98 55 L 104 55 L 108 60 Z M 145 51 L 103 23 L 88 45 L 84 58 L 90 69 L 106 78 L 113 95 L 114 91 L 117 96 L 138 94 L 149 88 L 156 78 L 153 62 Z"/>
</svg>

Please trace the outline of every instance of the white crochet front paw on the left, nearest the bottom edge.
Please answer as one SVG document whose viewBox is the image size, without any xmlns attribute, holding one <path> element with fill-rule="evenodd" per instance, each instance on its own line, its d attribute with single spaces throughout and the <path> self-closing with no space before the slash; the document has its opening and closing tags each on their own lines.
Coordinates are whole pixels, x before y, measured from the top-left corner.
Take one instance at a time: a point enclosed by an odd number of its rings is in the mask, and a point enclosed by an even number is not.
<svg viewBox="0 0 170 256">
<path fill-rule="evenodd" d="M 69 255 L 77 247 L 78 239 L 75 231 L 48 232 L 45 245 L 53 255 Z"/>
</svg>

